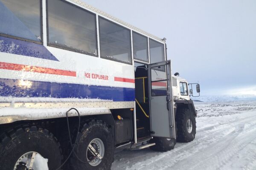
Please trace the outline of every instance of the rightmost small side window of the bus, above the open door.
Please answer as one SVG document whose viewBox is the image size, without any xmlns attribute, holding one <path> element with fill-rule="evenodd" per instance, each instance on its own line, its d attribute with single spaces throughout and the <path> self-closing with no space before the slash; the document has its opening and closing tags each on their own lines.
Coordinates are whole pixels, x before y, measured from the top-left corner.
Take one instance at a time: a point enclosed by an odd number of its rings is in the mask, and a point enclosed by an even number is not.
<svg viewBox="0 0 256 170">
<path fill-rule="evenodd" d="M 164 61 L 163 48 L 162 43 L 149 39 L 150 63 Z"/>
</svg>

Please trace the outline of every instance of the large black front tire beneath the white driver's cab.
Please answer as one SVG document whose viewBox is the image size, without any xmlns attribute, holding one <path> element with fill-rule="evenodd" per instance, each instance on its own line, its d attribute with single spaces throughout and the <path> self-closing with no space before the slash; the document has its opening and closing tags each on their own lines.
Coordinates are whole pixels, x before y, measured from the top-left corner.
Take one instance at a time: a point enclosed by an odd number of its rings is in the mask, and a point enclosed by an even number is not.
<svg viewBox="0 0 256 170">
<path fill-rule="evenodd" d="M 189 124 L 189 120 L 191 121 Z M 195 115 L 188 108 L 181 108 L 176 113 L 177 142 L 191 142 L 195 139 Z M 190 125 L 190 126 L 189 126 Z"/>
</svg>

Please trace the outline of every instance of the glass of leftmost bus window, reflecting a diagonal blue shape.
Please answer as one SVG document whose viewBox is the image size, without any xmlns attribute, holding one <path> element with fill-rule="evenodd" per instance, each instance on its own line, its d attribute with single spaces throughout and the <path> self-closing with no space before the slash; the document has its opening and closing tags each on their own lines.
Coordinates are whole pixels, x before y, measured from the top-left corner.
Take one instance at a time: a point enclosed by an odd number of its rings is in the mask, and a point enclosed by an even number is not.
<svg viewBox="0 0 256 170">
<path fill-rule="evenodd" d="M 0 33 L 41 41 L 39 0 L 0 0 Z"/>
</svg>

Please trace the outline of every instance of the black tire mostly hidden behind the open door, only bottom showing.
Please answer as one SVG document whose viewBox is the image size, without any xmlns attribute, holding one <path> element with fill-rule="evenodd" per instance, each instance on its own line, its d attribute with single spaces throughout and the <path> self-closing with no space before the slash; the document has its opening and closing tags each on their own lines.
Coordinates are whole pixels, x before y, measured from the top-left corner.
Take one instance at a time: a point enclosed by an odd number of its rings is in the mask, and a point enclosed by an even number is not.
<svg viewBox="0 0 256 170">
<path fill-rule="evenodd" d="M 167 139 L 167 138 L 157 138 L 154 137 L 150 141 L 151 143 L 156 143 L 154 146 L 151 146 L 151 150 L 166 152 L 172 150 L 176 144 L 175 139 Z"/>
</svg>

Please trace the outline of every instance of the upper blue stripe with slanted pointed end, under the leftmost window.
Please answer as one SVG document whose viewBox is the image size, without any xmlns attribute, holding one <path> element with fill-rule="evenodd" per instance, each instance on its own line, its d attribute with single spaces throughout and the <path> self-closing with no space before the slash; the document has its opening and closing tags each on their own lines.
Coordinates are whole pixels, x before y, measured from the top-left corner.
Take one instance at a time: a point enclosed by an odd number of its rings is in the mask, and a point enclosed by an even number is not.
<svg viewBox="0 0 256 170">
<path fill-rule="evenodd" d="M 0 37 L 0 52 L 59 61 L 44 45 Z"/>
</svg>

